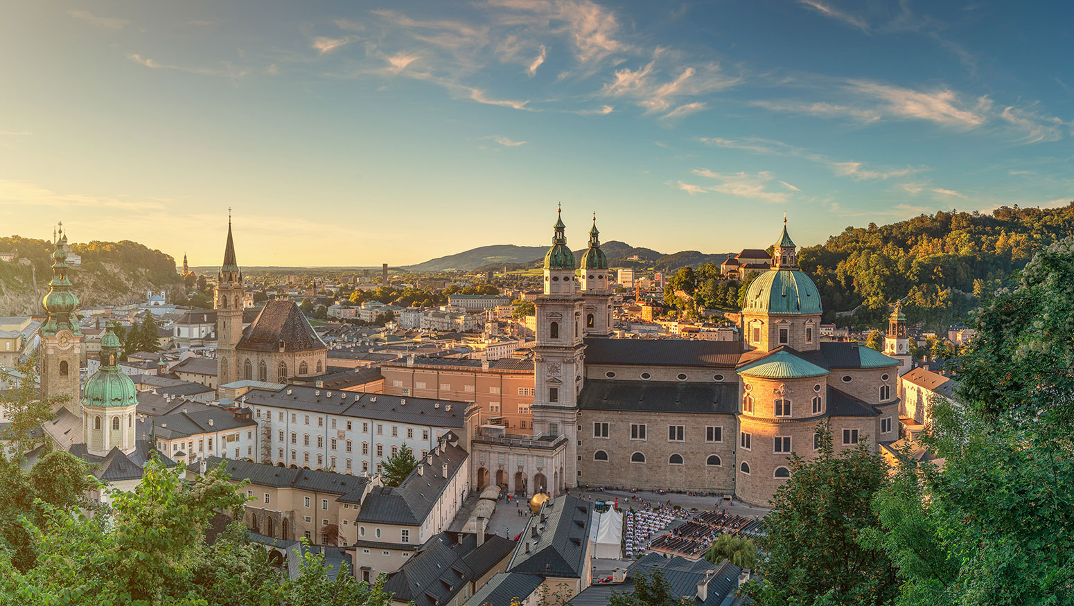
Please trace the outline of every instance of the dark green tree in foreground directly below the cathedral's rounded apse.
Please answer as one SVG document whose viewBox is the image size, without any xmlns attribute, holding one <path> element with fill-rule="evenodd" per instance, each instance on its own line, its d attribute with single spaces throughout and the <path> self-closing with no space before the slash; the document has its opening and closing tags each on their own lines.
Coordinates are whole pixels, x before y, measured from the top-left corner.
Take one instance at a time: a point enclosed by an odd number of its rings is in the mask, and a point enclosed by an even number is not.
<svg viewBox="0 0 1074 606">
<path fill-rule="evenodd" d="M 880 528 L 871 502 L 887 464 L 863 440 L 836 455 L 827 423 L 816 438 L 816 456 L 793 454 L 790 478 L 772 497 L 759 540 L 767 553 L 757 564 L 765 585 L 750 583 L 748 592 L 763 606 L 888 604 L 898 594 L 895 567 L 861 543 L 866 529 Z"/>
</svg>

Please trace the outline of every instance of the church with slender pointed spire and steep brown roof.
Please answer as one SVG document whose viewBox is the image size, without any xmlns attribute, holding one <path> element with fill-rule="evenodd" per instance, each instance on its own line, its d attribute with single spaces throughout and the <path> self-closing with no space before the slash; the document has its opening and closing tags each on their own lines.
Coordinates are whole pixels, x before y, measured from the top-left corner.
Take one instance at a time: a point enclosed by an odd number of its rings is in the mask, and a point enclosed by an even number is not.
<svg viewBox="0 0 1074 606">
<path fill-rule="evenodd" d="M 328 369 L 328 345 L 306 321 L 299 306 L 273 300 L 243 329 L 243 272 L 228 220 L 228 241 L 216 283 L 218 385 L 233 381 L 287 383 L 294 376 L 317 376 Z"/>
</svg>

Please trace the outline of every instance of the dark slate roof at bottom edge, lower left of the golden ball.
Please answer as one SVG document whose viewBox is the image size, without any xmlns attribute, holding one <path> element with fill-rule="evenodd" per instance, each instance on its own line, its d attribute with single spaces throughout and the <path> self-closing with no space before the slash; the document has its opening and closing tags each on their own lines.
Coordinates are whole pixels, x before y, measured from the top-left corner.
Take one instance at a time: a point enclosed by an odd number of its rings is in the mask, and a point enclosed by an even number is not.
<svg viewBox="0 0 1074 606">
<path fill-rule="evenodd" d="M 403 566 L 389 574 L 384 590 L 415 606 L 444 606 L 467 583 L 476 582 L 510 556 L 514 542 L 487 534 L 441 532 L 432 536 Z"/>
</svg>

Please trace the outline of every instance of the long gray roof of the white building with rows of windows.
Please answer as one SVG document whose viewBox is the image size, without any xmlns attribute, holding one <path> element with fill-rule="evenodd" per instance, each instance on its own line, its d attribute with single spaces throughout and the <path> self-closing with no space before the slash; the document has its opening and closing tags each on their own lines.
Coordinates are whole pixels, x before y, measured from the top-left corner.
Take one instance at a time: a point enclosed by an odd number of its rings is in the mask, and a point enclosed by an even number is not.
<svg viewBox="0 0 1074 606">
<path fill-rule="evenodd" d="M 466 410 L 477 405 L 473 402 L 361 391 L 333 391 L 297 385 L 288 386 L 278 391 L 255 389 L 244 395 L 242 401 L 248 407 L 278 407 L 322 414 L 450 428 L 462 428 Z"/>
</svg>

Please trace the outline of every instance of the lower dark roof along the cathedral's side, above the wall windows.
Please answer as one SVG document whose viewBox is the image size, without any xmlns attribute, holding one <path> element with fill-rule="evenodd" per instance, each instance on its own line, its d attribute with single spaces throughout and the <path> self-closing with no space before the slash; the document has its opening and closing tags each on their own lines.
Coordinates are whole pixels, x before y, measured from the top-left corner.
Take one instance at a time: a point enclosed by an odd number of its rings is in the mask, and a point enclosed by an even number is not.
<svg viewBox="0 0 1074 606">
<path fill-rule="evenodd" d="M 738 383 L 587 379 L 578 397 L 578 408 L 735 414 L 738 410 Z"/>
</svg>

